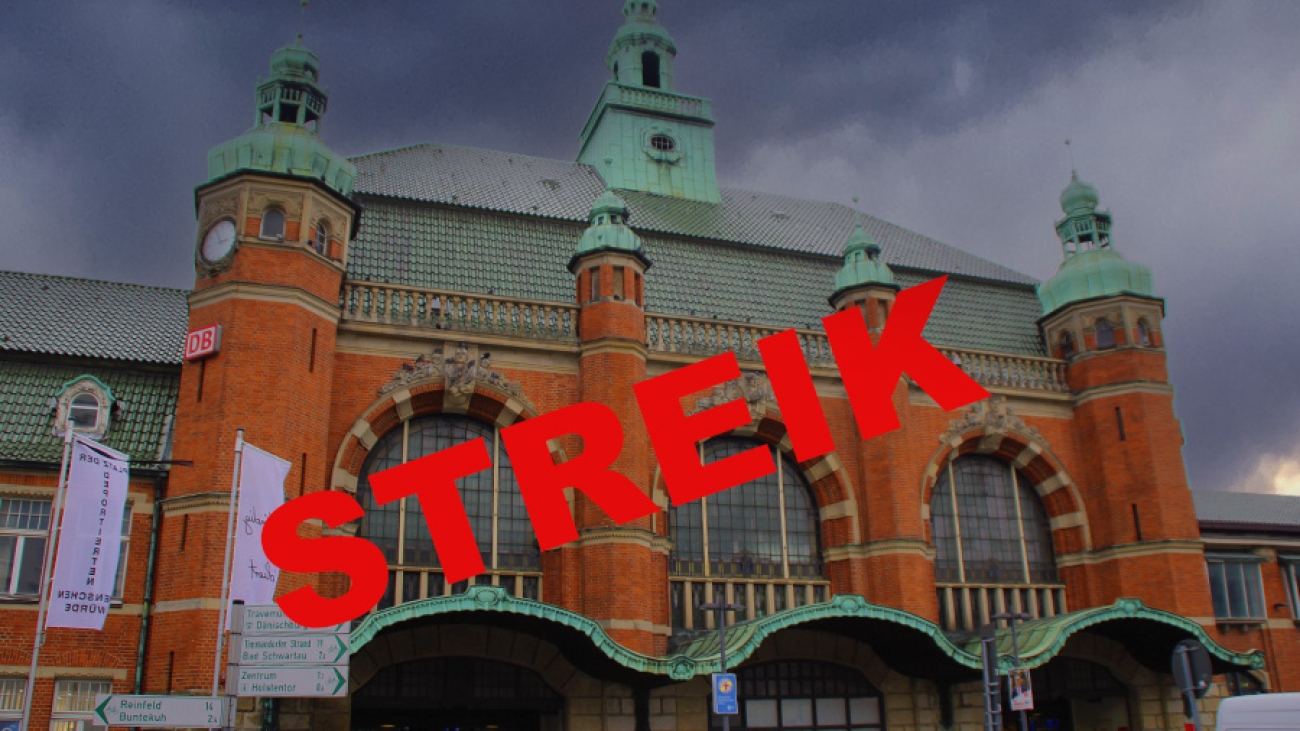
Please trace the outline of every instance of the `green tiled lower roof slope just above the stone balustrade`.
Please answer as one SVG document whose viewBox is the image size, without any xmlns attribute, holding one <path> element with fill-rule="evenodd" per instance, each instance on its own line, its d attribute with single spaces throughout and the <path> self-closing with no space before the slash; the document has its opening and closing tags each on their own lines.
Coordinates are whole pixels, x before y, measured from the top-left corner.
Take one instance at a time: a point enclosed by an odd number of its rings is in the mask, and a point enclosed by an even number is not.
<svg viewBox="0 0 1300 731">
<path fill-rule="evenodd" d="M 573 276 L 566 267 L 585 230 L 577 220 L 391 198 L 365 198 L 364 204 L 348 263 L 352 278 L 554 302 L 573 298 Z M 848 221 L 852 229 L 852 215 Z M 636 215 L 629 224 L 642 233 L 654 261 L 646 273 L 650 312 L 800 328 L 820 326 L 831 313 L 827 298 L 842 264 L 838 251 L 796 254 L 644 233 Z M 836 246 L 846 237 L 848 232 L 837 237 Z M 935 271 L 896 265 L 894 274 L 906 287 L 932 278 Z M 1039 300 L 1028 285 L 952 277 L 926 336 L 952 347 L 1043 355 L 1037 316 Z"/>
</svg>

